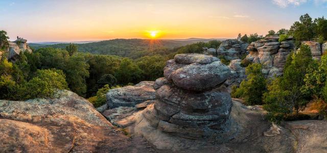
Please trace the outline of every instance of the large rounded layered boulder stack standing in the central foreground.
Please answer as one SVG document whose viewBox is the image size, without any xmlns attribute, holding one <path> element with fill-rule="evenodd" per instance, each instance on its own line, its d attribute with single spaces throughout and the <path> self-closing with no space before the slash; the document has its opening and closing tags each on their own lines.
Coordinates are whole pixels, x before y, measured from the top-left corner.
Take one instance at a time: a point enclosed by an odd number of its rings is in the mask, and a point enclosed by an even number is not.
<svg viewBox="0 0 327 153">
<path fill-rule="evenodd" d="M 156 80 L 156 101 L 143 111 L 156 129 L 183 138 L 212 136 L 224 128 L 232 107 L 224 85 L 229 68 L 216 57 L 179 54 Z"/>
</svg>

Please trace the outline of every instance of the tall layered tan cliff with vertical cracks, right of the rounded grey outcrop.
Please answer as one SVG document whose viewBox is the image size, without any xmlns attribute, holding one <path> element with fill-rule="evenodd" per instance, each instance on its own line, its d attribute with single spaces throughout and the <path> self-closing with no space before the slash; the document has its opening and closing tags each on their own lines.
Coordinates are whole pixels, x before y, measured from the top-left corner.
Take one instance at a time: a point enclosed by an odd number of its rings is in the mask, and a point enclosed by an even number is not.
<svg viewBox="0 0 327 153">
<path fill-rule="evenodd" d="M 247 47 L 249 55 L 246 59 L 253 63 L 261 63 L 263 65 L 262 72 L 266 77 L 282 75 L 286 59 L 294 49 L 291 37 L 283 42 L 278 42 L 278 39 L 279 37 L 267 37 L 251 42 Z"/>
</svg>

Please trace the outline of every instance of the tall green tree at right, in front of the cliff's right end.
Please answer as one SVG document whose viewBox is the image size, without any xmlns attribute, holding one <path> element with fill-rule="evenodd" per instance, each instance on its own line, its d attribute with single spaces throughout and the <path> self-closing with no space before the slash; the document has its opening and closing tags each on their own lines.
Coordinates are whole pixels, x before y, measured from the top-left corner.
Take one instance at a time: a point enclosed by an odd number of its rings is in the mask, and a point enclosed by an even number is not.
<svg viewBox="0 0 327 153">
<path fill-rule="evenodd" d="M 308 45 L 301 45 L 296 53 L 287 59 L 282 77 L 276 78 L 264 94 L 264 109 L 272 121 L 281 121 L 287 116 L 298 115 L 305 108 L 310 94 L 305 90 L 305 75 L 312 65 L 312 55 Z"/>
</svg>

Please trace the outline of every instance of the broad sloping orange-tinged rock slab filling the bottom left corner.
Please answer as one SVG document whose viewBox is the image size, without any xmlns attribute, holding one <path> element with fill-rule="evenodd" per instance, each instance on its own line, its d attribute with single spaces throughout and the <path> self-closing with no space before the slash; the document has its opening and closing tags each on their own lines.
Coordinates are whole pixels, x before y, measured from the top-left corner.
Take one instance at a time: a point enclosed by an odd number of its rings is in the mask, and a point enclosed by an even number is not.
<svg viewBox="0 0 327 153">
<path fill-rule="evenodd" d="M 92 104 L 65 90 L 53 99 L 0 100 L 0 139 L 0 152 L 110 152 L 128 145 Z"/>
</svg>

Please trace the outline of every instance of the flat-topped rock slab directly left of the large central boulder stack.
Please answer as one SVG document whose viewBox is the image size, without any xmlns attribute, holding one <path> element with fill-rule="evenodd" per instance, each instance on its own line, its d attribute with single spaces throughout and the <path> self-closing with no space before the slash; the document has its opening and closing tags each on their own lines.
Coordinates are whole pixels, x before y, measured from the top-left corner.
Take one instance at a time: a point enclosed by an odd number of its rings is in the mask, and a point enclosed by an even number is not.
<svg viewBox="0 0 327 153">
<path fill-rule="evenodd" d="M 135 86 L 126 86 L 122 88 L 111 89 L 106 94 L 107 107 L 112 109 L 116 107 L 134 107 L 139 103 L 155 99 L 155 90 L 153 81 L 143 81 Z"/>
</svg>

